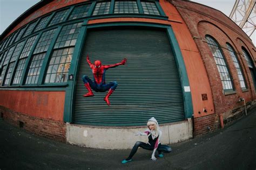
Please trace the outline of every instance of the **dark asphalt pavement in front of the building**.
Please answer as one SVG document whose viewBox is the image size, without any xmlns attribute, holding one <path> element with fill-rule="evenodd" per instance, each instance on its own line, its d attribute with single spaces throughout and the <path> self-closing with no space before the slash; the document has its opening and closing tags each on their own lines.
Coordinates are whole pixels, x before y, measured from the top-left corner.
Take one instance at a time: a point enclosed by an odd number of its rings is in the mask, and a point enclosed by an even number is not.
<svg viewBox="0 0 256 170">
<path fill-rule="evenodd" d="M 129 140 L 129 139 L 127 139 Z M 133 161 L 121 164 L 131 150 L 101 150 L 37 137 L 0 120 L 2 169 L 256 169 L 256 109 L 224 129 L 181 143 L 171 153 L 150 160 L 139 149 Z"/>
</svg>

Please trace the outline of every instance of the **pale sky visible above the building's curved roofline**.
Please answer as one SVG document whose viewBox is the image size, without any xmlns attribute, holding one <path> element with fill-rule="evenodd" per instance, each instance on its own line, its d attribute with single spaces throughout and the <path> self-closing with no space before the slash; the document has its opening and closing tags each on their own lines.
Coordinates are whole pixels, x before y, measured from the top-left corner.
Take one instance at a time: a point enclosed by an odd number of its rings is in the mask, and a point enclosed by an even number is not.
<svg viewBox="0 0 256 170">
<path fill-rule="evenodd" d="M 235 0 L 192 0 L 212 8 L 218 9 L 226 16 L 234 6 Z M 17 19 L 23 12 L 31 8 L 31 6 L 40 2 L 40 0 L 0 0 L 0 34 Z M 10 8 L 11 7 L 11 8 Z M 256 44 L 256 33 L 252 37 L 254 45 Z"/>
</svg>

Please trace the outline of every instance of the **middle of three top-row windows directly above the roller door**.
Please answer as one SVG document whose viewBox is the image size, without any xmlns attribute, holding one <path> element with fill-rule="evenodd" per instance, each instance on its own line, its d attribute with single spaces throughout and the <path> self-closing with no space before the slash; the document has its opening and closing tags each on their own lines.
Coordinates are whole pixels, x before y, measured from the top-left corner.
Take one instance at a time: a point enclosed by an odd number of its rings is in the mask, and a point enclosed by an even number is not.
<svg viewBox="0 0 256 170">
<path fill-rule="evenodd" d="M 114 13 L 139 13 L 136 1 L 116 1 Z"/>
</svg>

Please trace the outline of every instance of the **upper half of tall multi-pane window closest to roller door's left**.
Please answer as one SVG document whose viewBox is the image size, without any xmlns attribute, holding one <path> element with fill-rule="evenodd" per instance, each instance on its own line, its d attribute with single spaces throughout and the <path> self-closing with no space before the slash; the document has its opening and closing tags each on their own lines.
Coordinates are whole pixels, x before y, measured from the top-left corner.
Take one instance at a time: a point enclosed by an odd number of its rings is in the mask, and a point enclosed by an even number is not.
<svg viewBox="0 0 256 170">
<path fill-rule="evenodd" d="M 60 31 L 54 48 L 75 46 L 82 23 L 66 25 Z"/>
</svg>

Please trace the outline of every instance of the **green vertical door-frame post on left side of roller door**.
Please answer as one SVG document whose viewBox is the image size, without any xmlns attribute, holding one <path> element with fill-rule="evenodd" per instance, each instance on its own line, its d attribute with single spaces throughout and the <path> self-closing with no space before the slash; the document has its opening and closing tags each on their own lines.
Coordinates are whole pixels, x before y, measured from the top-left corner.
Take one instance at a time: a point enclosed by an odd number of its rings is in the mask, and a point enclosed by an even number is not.
<svg viewBox="0 0 256 170">
<path fill-rule="evenodd" d="M 87 23 L 88 20 L 84 21 L 84 24 Z M 68 87 L 66 88 L 66 94 L 65 94 L 65 104 L 64 104 L 64 122 L 72 122 L 72 110 L 73 110 L 73 101 L 74 101 L 74 93 L 75 93 L 75 87 L 76 87 L 76 76 L 78 73 L 78 63 L 80 59 L 80 55 L 82 54 L 83 46 L 85 43 L 85 37 L 87 32 L 87 26 L 82 26 L 76 46 L 74 49 L 74 53 L 71 60 L 71 65 L 69 69 L 69 75 L 73 74 L 73 80 L 68 80 Z"/>
</svg>

